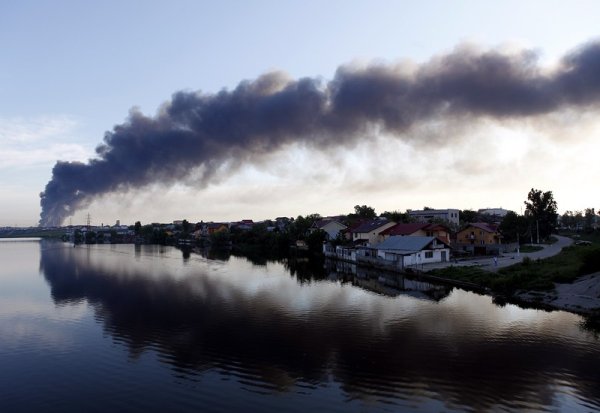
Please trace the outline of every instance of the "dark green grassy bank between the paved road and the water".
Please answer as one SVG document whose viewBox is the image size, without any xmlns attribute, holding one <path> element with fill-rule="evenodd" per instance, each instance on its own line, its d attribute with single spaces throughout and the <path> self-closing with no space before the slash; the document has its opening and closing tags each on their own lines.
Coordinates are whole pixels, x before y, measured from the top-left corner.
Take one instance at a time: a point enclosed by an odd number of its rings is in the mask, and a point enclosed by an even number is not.
<svg viewBox="0 0 600 413">
<path fill-rule="evenodd" d="M 554 283 L 570 283 L 577 277 L 600 271 L 600 246 L 571 246 L 544 260 L 525 259 L 498 272 L 477 267 L 448 267 L 432 275 L 472 282 L 492 291 L 512 295 L 517 290 L 551 290 Z"/>
</svg>

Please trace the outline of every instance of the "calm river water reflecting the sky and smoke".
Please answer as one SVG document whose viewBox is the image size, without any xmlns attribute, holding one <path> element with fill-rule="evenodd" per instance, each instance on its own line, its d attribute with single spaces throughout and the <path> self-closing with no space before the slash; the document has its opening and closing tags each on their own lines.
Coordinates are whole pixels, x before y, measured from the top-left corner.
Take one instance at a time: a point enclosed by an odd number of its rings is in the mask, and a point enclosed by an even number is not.
<svg viewBox="0 0 600 413">
<path fill-rule="evenodd" d="M 0 241 L 0 411 L 600 411 L 600 339 L 460 289 Z"/>
</svg>

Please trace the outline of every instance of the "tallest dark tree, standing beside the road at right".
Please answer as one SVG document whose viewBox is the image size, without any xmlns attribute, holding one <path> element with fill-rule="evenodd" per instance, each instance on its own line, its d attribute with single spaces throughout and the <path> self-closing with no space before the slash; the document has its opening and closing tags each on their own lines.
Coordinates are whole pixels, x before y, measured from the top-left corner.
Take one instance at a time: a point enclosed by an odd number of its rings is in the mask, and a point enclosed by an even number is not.
<svg viewBox="0 0 600 413">
<path fill-rule="evenodd" d="M 528 218 L 531 232 L 539 239 L 547 239 L 556 228 L 556 201 L 552 191 L 543 192 L 531 188 L 525 201 L 525 216 Z"/>
</svg>

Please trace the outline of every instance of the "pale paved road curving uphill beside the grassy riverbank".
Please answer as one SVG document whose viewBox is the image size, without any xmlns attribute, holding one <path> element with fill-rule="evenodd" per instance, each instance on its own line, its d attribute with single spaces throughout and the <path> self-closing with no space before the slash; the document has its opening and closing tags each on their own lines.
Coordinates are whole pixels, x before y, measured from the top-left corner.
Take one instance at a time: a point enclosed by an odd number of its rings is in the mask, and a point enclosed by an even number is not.
<svg viewBox="0 0 600 413">
<path fill-rule="evenodd" d="M 573 240 L 568 237 L 562 237 L 560 235 L 554 235 L 558 241 L 554 244 L 545 245 L 540 244 L 544 249 L 536 252 L 527 252 L 527 253 L 504 253 L 500 257 L 497 257 L 497 263 L 494 262 L 493 257 L 481 257 L 473 260 L 465 260 L 459 261 L 458 263 L 446 262 L 440 264 L 430 264 L 426 265 L 424 270 L 430 270 L 434 268 L 444 268 L 449 267 L 451 265 L 454 266 L 479 266 L 483 270 L 488 271 L 497 271 L 499 268 L 508 267 L 509 265 L 517 264 L 523 261 L 524 257 L 529 257 L 532 260 L 544 259 L 548 257 L 552 257 L 553 255 L 558 254 L 564 247 L 567 247 L 573 243 Z"/>
</svg>

